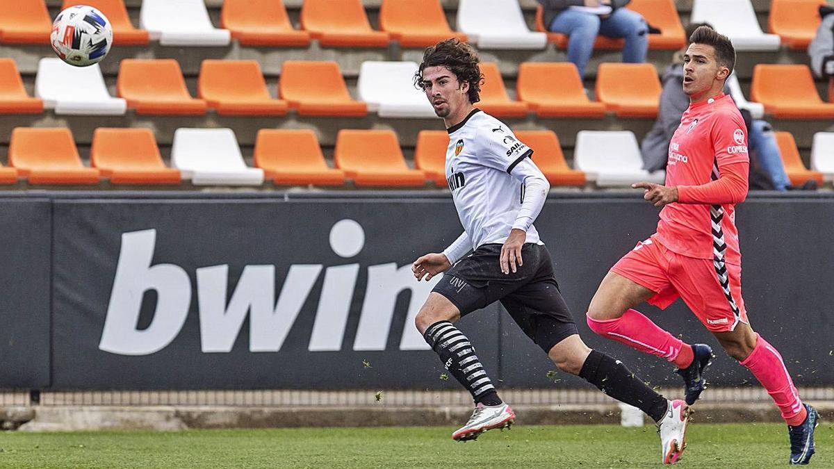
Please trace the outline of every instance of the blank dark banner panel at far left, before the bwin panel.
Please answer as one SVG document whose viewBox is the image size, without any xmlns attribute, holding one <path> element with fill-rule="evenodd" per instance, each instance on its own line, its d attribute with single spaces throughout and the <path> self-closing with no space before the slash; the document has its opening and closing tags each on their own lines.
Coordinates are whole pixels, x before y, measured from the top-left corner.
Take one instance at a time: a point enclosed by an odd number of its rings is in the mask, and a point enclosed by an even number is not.
<svg viewBox="0 0 834 469">
<path fill-rule="evenodd" d="M 49 386 L 51 204 L 0 199 L 0 383 Z"/>
</svg>

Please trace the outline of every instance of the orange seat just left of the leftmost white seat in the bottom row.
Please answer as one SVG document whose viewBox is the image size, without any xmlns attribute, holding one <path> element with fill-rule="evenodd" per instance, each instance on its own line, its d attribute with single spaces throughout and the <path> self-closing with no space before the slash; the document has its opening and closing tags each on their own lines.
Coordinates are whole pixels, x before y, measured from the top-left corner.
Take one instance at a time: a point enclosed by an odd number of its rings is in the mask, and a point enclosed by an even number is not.
<svg viewBox="0 0 834 469">
<path fill-rule="evenodd" d="M 96 129 L 90 165 L 112 184 L 181 182 L 179 171 L 163 163 L 150 129 Z"/>
</svg>

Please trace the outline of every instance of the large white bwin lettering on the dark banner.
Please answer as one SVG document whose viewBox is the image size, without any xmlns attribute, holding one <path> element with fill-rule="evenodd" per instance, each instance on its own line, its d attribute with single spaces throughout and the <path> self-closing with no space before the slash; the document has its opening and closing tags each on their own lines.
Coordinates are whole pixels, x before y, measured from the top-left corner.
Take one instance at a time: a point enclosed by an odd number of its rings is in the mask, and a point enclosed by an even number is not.
<svg viewBox="0 0 834 469">
<path fill-rule="evenodd" d="M 330 248 L 343 258 L 358 255 L 364 247 L 364 230 L 352 219 L 342 219 L 329 234 Z M 192 285 L 179 265 L 151 265 L 156 229 L 123 233 L 113 290 L 98 348 L 118 355 L 143 356 L 163 350 L 179 335 L 188 317 Z M 275 266 L 246 265 L 229 302 L 229 265 L 201 267 L 196 271 L 197 305 L 203 352 L 229 352 L 249 315 L 249 350 L 277 352 L 324 270 L 308 350 L 342 350 L 345 327 L 354 297 L 359 264 L 290 265 L 275 298 Z M 414 317 L 440 281 L 417 282 L 411 265 L 369 265 L 368 285 L 353 350 L 385 350 L 399 292 L 411 290 L 407 319 L 399 350 L 428 350 Z M 153 320 L 138 330 L 143 295 L 156 290 Z"/>
</svg>

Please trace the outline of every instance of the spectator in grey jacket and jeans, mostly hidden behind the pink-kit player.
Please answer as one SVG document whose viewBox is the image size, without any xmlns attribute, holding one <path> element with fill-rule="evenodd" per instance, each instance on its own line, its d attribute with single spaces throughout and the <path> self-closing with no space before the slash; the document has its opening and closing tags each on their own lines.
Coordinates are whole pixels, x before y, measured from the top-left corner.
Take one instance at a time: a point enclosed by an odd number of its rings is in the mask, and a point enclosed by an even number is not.
<svg viewBox="0 0 834 469">
<path fill-rule="evenodd" d="M 689 38 L 696 28 L 703 25 L 705 23 L 690 24 L 686 28 L 686 37 Z M 666 67 L 657 120 L 641 143 L 643 164 L 648 171 L 666 169 L 669 142 L 678 125 L 681 124 L 681 116 L 689 107 L 689 97 L 683 92 L 683 53 L 685 52 L 686 48 L 675 53 L 672 64 Z M 726 88 L 725 93 L 729 94 Z M 776 144 L 776 136 L 773 134 L 771 124 L 764 120 L 753 120 L 746 109 L 741 109 L 741 115 L 747 124 L 747 144 L 750 147 L 750 189 L 779 191 L 793 189 L 791 180 L 785 173 L 785 166 L 782 164 L 781 152 Z M 803 189 L 816 189 L 816 186 L 813 188 L 803 186 Z"/>
</svg>

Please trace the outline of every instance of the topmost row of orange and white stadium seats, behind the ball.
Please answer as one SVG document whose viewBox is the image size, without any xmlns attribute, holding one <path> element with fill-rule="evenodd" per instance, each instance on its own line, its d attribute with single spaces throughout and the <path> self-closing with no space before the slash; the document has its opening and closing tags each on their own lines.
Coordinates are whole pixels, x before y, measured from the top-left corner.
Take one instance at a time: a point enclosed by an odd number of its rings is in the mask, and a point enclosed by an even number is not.
<svg viewBox="0 0 834 469">
<path fill-rule="evenodd" d="M 14 0 L 0 15 L 3 43 L 48 43 L 52 19 L 43 0 Z M 816 7 L 825 0 L 773 0 L 769 28 L 762 33 L 750 0 L 694 0 L 691 22 L 712 23 L 727 33 L 737 50 L 776 50 L 780 43 L 804 49 L 820 23 Z M 158 39 L 171 46 L 224 46 L 231 38 L 244 45 L 305 46 L 315 39 L 324 47 L 382 48 L 391 41 L 423 48 L 455 36 L 481 48 L 565 48 L 567 39 L 546 33 L 541 8 L 531 32 L 517 0 L 460 0 L 452 31 L 437 0 L 383 0 L 379 28 L 371 28 L 361 0 L 305 0 L 295 30 L 281 0 L 225 0 L 221 26 L 215 28 L 203 0 L 143 0 L 141 29 L 133 27 L 123 0 L 64 0 L 63 8 L 88 4 L 113 24 L 118 45 L 147 44 Z M 686 43 L 673 0 L 632 0 L 626 7 L 641 13 L 661 33 L 649 36 L 649 47 L 681 48 Z M 420 18 L 420 21 L 414 21 Z M 498 33 L 500 32 L 500 33 Z M 598 38 L 597 48 L 621 48 L 622 41 Z"/>
</svg>

